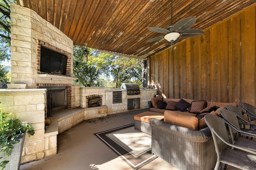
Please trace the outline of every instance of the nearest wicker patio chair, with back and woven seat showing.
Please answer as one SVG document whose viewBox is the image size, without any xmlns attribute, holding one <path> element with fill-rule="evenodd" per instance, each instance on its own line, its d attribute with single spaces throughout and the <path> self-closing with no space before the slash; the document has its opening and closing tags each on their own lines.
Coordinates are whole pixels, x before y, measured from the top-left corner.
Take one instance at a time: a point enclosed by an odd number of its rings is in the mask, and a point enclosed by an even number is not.
<svg viewBox="0 0 256 170">
<path fill-rule="evenodd" d="M 220 163 L 243 170 L 255 170 L 256 151 L 230 143 L 228 132 L 226 131 L 226 121 L 221 117 L 212 114 L 207 114 L 204 117 L 206 124 L 212 132 L 217 153 L 217 162 L 214 170 L 218 170 Z"/>
</svg>

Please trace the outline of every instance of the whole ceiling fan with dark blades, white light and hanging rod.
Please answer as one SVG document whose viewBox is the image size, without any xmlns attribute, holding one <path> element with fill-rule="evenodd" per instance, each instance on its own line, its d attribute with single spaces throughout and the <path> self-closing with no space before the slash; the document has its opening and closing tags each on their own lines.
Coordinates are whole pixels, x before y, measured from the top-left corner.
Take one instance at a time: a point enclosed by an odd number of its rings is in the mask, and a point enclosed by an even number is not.
<svg viewBox="0 0 256 170">
<path fill-rule="evenodd" d="M 172 4 L 171 4 L 171 14 L 172 14 Z M 155 37 L 148 40 L 146 43 L 157 41 L 160 39 L 166 39 L 168 45 L 174 45 L 178 43 L 179 37 L 196 37 L 198 35 L 204 34 L 204 31 L 200 29 L 190 29 L 196 22 L 196 17 L 189 17 L 178 21 L 176 24 L 172 25 L 172 15 L 171 15 L 171 25 L 167 28 L 160 27 L 148 27 L 150 31 L 157 33 L 165 33 L 165 36 Z"/>
</svg>

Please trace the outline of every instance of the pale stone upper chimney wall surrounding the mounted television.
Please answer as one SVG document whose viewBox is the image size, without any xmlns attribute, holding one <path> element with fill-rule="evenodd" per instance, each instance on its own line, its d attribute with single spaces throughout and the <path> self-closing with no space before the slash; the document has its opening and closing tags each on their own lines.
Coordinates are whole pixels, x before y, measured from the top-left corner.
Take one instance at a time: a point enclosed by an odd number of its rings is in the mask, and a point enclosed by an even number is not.
<svg viewBox="0 0 256 170">
<path fill-rule="evenodd" d="M 72 84 L 73 41 L 29 8 L 11 4 L 11 84 Z M 43 43 L 68 55 L 68 76 L 38 74 L 38 47 Z"/>
</svg>

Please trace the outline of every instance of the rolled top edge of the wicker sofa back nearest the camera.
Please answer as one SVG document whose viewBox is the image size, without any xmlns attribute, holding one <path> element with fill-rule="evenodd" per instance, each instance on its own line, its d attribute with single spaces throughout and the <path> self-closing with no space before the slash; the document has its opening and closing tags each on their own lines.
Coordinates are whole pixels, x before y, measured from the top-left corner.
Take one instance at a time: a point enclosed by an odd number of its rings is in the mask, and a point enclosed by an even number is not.
<svg viewBox="0 0 256 170">
<path fill-rule="evenodd" d="M 166 131 L 167 133 L 172 133 L 183 139 L 190 140 L 192 142 L 204 143 L 209 139 L 212 139 L 212 133 L 208 127 L 205 127 L 199 131 L 194 131 L 181 127 L 178 125 L 173 125 L 161 120 L 152 118 L 150 120 L 150 125 L 152 128 L 158 128 L 160 131 Z"/>
</svg>

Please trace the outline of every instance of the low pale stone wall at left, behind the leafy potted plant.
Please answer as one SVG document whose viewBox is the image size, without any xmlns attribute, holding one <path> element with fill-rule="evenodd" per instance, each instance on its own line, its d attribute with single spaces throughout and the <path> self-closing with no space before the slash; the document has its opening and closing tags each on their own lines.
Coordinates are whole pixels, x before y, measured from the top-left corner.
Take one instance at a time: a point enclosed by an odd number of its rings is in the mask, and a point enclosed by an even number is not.
<svg viewBox="0 0 256 170">
<path fill-rule="evenodd" d="M 46 90 L 0 90 L 2 111 L 13 113 L 21 122 L 33 123 L 35 134 L 26 135 L 21 163 L 52 156 L 57 152 L 57 132 L 44 131 L 44 103 Z"/>
</svg>

